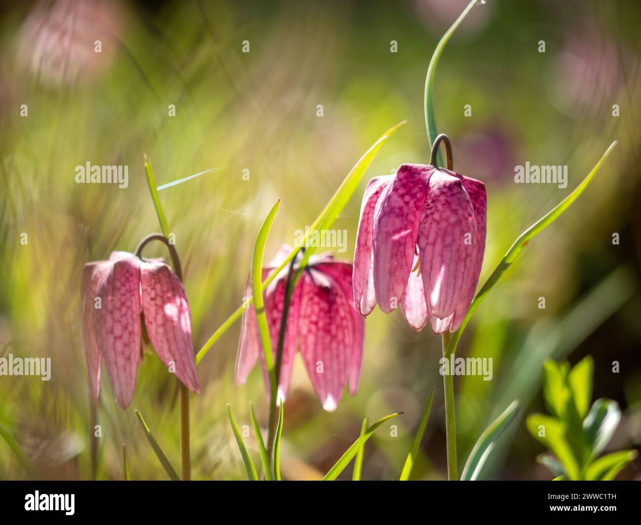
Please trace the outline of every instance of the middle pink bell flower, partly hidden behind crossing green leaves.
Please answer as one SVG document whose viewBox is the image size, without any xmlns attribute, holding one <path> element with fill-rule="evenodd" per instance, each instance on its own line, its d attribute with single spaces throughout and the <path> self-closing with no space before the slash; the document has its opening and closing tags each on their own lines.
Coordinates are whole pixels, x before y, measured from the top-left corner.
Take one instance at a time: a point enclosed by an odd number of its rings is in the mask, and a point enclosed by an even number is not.
<svg viewBox="0 0 641 525">
<path fill-rule="evenodd" d="M 285 260 L 290 251 L 288 246 L 281 247 L 276 258 L 263 268 L 263 280 Z M 353 306 L 352 271 L 350 262 L 334 260 L 331 253 L 310 257 L 292 290 L 278 385 L 279 399 L 284 400 L 287 396 L 297 348 L 312 387 L 325 410 L 335 410 L 345 383 L 349 383 L 349 393 L 356 394 L 365 319 Z M 278 349 L 286 285 L 287 270 L 283 270 L 263 292 L 274 356 Z M 249 283 L 246 295 L 251 295 Z M 256 314 L 254 308 L 249 306 L 242 317 L 235 371 L 237 383 L 246 381 L 258 356 L 263 365 L 269 395 L 269 379 L 260 346 Z"/>
</svg>

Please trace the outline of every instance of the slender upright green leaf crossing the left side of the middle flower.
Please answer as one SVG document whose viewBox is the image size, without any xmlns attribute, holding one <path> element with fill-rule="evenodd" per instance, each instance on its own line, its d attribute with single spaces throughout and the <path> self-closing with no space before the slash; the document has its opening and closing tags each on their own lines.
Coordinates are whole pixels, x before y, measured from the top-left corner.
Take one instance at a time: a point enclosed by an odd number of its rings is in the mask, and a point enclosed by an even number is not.
<svg viewBox="0 0 641 525">
<path fill-rule="evenodd" d="M 267 315 L 265 315 L 265 304 L 263 304 L 263 292 L 260 283 L 263 279 L 263 254 L 265 253 L 265 242 L 267 235 L 274 222 L 276 211 L 280 205 L 280 199 L 274 203 L 272 209 L 267 213 L 263 225 L 258 231 L 256 244 L 254 244 L 254 256 L 251 262 L 251 293 L 254 297 L 254 311 L 256 312 L 256 323 L 258 324 L 258 333 L 260 335 L 260 344 L 263 347 L 265 356 L 265 368 L 269 376 L 269 388 L 272 399 L 276 396 L 276 375 L 274 374 L 274 354 L 272 353 L 272 342 L 269 337 L 269 327 L 267 326 Z"/>
</svg>

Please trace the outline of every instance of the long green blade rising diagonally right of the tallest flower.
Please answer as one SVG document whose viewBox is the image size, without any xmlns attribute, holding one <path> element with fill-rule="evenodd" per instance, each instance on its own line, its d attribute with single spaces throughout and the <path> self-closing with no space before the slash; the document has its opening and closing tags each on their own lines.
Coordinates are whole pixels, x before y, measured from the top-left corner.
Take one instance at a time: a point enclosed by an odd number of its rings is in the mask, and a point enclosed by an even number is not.
<svg viewBox="0 0 641 525">
<path fill-rule="evenodd" d="M 501 262 L 499 262 L 499 265 L 494 269 L 494 272 L 492 272 L 492 275 L 490 275 L 487 281 L 485 281 L 485 284 L 483 285 L 483 287 L 481 287 L 481 290 L 479 290 L 478 294 L 476 294 L 476 297 L 474 297 L 474 300 L 472 301 L 472 304 L 470 304 L 470 308 L 467 311 L 467 315 L 465 315 L 465 319 L 463 319 L 461 326 L 452 334 L 452 338 L 447 345 L 447 352 L 449 354 L 453 354 L 454 351 L 456 351 L 456 345 L 458 344 L 458 341 L 460 340 L 463 330 L 467 326 L 467 323 L 472 318 L 472 315 L 474 315 L 476 308 L 478 308 L 479 304 L 481 304 L 481 301 L 485 299 L 487 294 L 490 293 L 490 290 L 492 290 L 492 288 L 497 283 L 497 281 L 499 281 L 504 272 L 512 265 L 515 259 L 523 251 L 524 247 L 528 246 L 528 242 L 532 240 L 533 237 L 535 237 L 538 233 L 547 228 L 547 226 L 556 221 L 556 219 L 558 219 L 558 217 L 560 217 L 560 215 L 565 212 L 567 208 L 569 208 L 570 204 L 574 203 L 574 201 L 578 199 L 579 195 L 581 195 L 581 193 L 583 193 L 583 190 L 587 188 L 588 184 L 595 176 L 597 171 L 601 169 L 601 166 L 605 162 L 608 155 L 612 153 L 612 150 L 616 145 L 617 141 L 615 140 L 614 142 L 612 142 L 612 144 L 610 144 L 610 147 L 606 149 L 606 152 L 603 154 L 603 156 L 601 156 L 599 162 L 594 165 L 592 171 L 588 173 L 588 176 L 583 179 L 581 184 L 579 184 L 578 187 L 574 188 L 574 191 L 570 193 L 569 196 L 565 197 L 565 199 L 554 206 L 552 210 L 547 212 L 543 217 L 535 222 L 535 224 L 521 233 L 517 240 L 514 241 L 512 247 L 510 247 Z"/>
</svg>

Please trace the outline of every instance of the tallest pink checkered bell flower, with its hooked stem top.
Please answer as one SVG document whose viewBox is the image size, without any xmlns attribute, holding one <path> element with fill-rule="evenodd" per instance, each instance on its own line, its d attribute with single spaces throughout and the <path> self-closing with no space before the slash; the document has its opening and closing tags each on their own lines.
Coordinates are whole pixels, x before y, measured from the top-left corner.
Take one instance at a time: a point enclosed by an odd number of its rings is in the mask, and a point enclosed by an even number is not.
<svg viewBox="0 0 641 525">
<path fill-rule="evenodd" d="M 436 165 L 446 140 L 447 165 Z M 394 176 L 369 181 L 354 250 L 354 305 L 362 315 L 376 303 L 398 304 L 412 328 L 428 318 L 435 333 L 455 331 L 478 283 L 487 199 L 485 185 L 451 170 L 449 140 L 435 141 L 431 163 L 403 164 Z"/>
</svg>

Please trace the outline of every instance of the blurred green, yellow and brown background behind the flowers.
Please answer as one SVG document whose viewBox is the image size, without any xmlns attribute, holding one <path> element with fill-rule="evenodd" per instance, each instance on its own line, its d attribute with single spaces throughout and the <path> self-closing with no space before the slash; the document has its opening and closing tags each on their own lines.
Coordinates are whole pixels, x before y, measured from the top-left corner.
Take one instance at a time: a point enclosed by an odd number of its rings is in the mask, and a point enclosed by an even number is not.
<svg viewBox="0 0 641 525">
<path fill-rule="evenodd" d="M 423 89 L 438 39 L 467 0 L 40 1 L 0 8 L 0 355 L 51 357 L 51 380 L 0 377 L 0 425 L 35 465 L 36 478 L 91 479 L 90 417 L 81 335 L 82 265 L 133 251 L 158 231 L 143 154 L 183 260 L 194 346 L 242 302 L 254 238 L 280 197 L 271 258 L 312 223 L 376 138 L 408 122 L 381 149 L 335 222 L 351 258 L 367 179 L 404 162 L 427 163 Z M 487 297 L 458 354 L 494 358 L 494 379 L 458 377 L 462 468 L 476 438 L 513 400 L 517 425 L 485 477 L 551 479 L 524 416 L 544 410 L 545 358 L 595 359 L 594 398 L 624 412 L 610 449 L 641 443 L 641 186 L 638 20 L 626 0 L 488 0 L 474 8 L 438 65 L 435 111 L 453 142 L 456 171 L 482 179 L 488 239 L 481 281 L 519 233 L 578 185 L 613 141 L 597 178 L 527 247 Z M 101 40 L 102 53 L 94 53 Z M 250 52 L 242 53 L 249 41 Z M 390 42 L 397 41 L 397 53 Z M 545 41 L 545 53 L 538 48 Z M 21 116 L 26 104 L 28 115 Z M 169 104 L 176 116 L 168 115 Z M 323 116 L 317 116 L 317 104 Z M 471 104 L 472 116 L 463 115 Z M 618 104 L 620 116 L 613 116 Z M 568 187 L 518 185 L 515 165 L 567 165 Z M 78 185 L 76 165 L 129 166 L 129 187 Z M 249 180 L 243 171 L 249 170 Z M 28 244 L 21 244 L 21 234 Z M 612 242 L 618 233 L 620 244 Z M 157 253 L 153 253 L 154 250 Z M 147 256 L 165 256 L 150 247 Z M 538 298 L 545 297 L 545 309 Z M 192 396 L 192 472 L 242 479 L 226 404 L 264 426 L 260 371 L 233 383 L 240 323 L 199 366 Z M 417 479 L 445 478 L 440 338 L 410 329 L 400 312 L 366 322 L 360 389 L 322 410 L 297 358 L 285 410 L 283 475 L 315 479 L 370 421 L 403 410 L 397 437 L 367 444 L 365 479 L 397 479 L 429 388 L 433 412 Z M 620 372 L 612 372 L 612 362 Z M 129 410 L 103 373 L 97 422 L 98 479 L 121 479 L 121 446 L 134 479 L 165 479 L 135 418 L 140 410 L 179 466 L 176 381 L 156 356 L 140 368 Z M 258 461 L 255 442 L 246 440 Z M 633 462 L 620 479 L 639 478 Z M 344 472 L 349 477 L 351 469 Z M 28 477 L 0 441 L 0 478 Z"/>
</svg>

